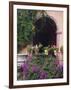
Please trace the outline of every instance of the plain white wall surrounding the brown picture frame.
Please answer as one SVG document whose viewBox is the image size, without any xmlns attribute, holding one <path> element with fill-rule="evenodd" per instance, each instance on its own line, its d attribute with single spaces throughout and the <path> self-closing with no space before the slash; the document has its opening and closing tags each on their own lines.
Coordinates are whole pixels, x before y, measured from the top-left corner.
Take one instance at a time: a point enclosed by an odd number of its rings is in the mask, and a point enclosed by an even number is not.
<svg viewBox="0 0 71 90">
<path fill-rule="evenodd" d="M 15 0 L 16 1 L 16 0 Z M 20 0 L 17 0 L 20 1 Z M 70 0 L 21 0 L 31 2 L 46 2 L 46 3 L 60 3 L 71 4 Z M 70 6 L 71 11 L 71 6 Z M 71 15 L 71 12 L 70 12 Z M 8 69 L 9 69 L 9 0 L 0 0 L 0 90 L 9 90 L 8 88 Z M 71 18 L 70 18 L 71 22 Z M 70 31 L 71 34 L 71 31 Z M 71 35 L 70 35 L 71 38 Z M 71 45 L 71 44 L 70 44 Z M 70 47 L 71 50 L 71 47 Z M 71 63 L 71 62 L 70 62 Z M 71 68 L 71 66 L 70 66 Z M 70 72 L 71 73 L 71 72 Z M 70 74 L 71 75 L 71 74 Z M 71 81 L 71 78 L 70 78 Z M 68 86 L 52 86 L 41 88 L 26 88 L 25 90 L 69 90 L 71 84 Z M 14 89 L 13 89 L 14 90 Z M 17 90 L 17 89 L 16 89 Z M 18 89 L 23 90 L 23 89 Z"/>
</svg>

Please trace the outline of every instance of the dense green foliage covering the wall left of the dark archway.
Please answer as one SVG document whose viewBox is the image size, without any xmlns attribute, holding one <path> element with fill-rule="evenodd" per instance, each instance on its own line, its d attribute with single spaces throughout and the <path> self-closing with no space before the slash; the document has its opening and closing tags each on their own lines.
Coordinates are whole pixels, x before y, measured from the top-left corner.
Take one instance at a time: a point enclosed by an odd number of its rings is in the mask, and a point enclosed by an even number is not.
<svg viewBox="0 0 71 90">
<path fill-rule="evenodd" d="M 33 21 L 36 10 L 17 10 L 17 46 L 26 46 L 31 43 L 33 36 Z"/>
</svg>

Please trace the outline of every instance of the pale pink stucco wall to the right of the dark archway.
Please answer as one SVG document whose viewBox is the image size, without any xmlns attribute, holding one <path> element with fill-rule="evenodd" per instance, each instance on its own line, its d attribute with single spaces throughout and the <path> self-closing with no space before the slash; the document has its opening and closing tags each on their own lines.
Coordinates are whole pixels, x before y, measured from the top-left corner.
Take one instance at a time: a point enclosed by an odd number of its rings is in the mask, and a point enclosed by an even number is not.
<svg viewBox="0 0 71 90">
<path fill-rule="evenodd" d="M 47 11 L 56 22 L 57 25 L 57 47 L 63 45 L 63 12 L 62 11 Z"/>
</svg>

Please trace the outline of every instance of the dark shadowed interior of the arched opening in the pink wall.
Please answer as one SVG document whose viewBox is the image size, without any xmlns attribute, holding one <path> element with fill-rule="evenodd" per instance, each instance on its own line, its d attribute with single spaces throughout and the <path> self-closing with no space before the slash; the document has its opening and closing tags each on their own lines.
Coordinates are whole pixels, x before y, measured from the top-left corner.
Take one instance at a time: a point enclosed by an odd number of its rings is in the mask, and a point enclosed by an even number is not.
<svg viewBox="0 0 71 90">
<path fill-rule="evenodd" d="M 56 45 L 55 21 L 49 16 L 44 16 L 35 21 L 36 33 L 33 36 L 33 44 L 41 43 L 43 46 Z"/>
</svg>

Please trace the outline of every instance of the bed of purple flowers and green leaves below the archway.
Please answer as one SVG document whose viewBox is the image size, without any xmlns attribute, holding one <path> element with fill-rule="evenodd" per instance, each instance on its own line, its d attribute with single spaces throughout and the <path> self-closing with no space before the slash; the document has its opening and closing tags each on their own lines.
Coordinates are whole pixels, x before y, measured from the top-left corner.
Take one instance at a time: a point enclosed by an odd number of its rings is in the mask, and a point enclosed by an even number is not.
<svg viewBox="0 0 71 90">
<path fill-rule="evenodd" d="M 52 55 L 27 55 L 17 72 L 18 80 L 62 78 L 63 64 Z"/>
</svg>

